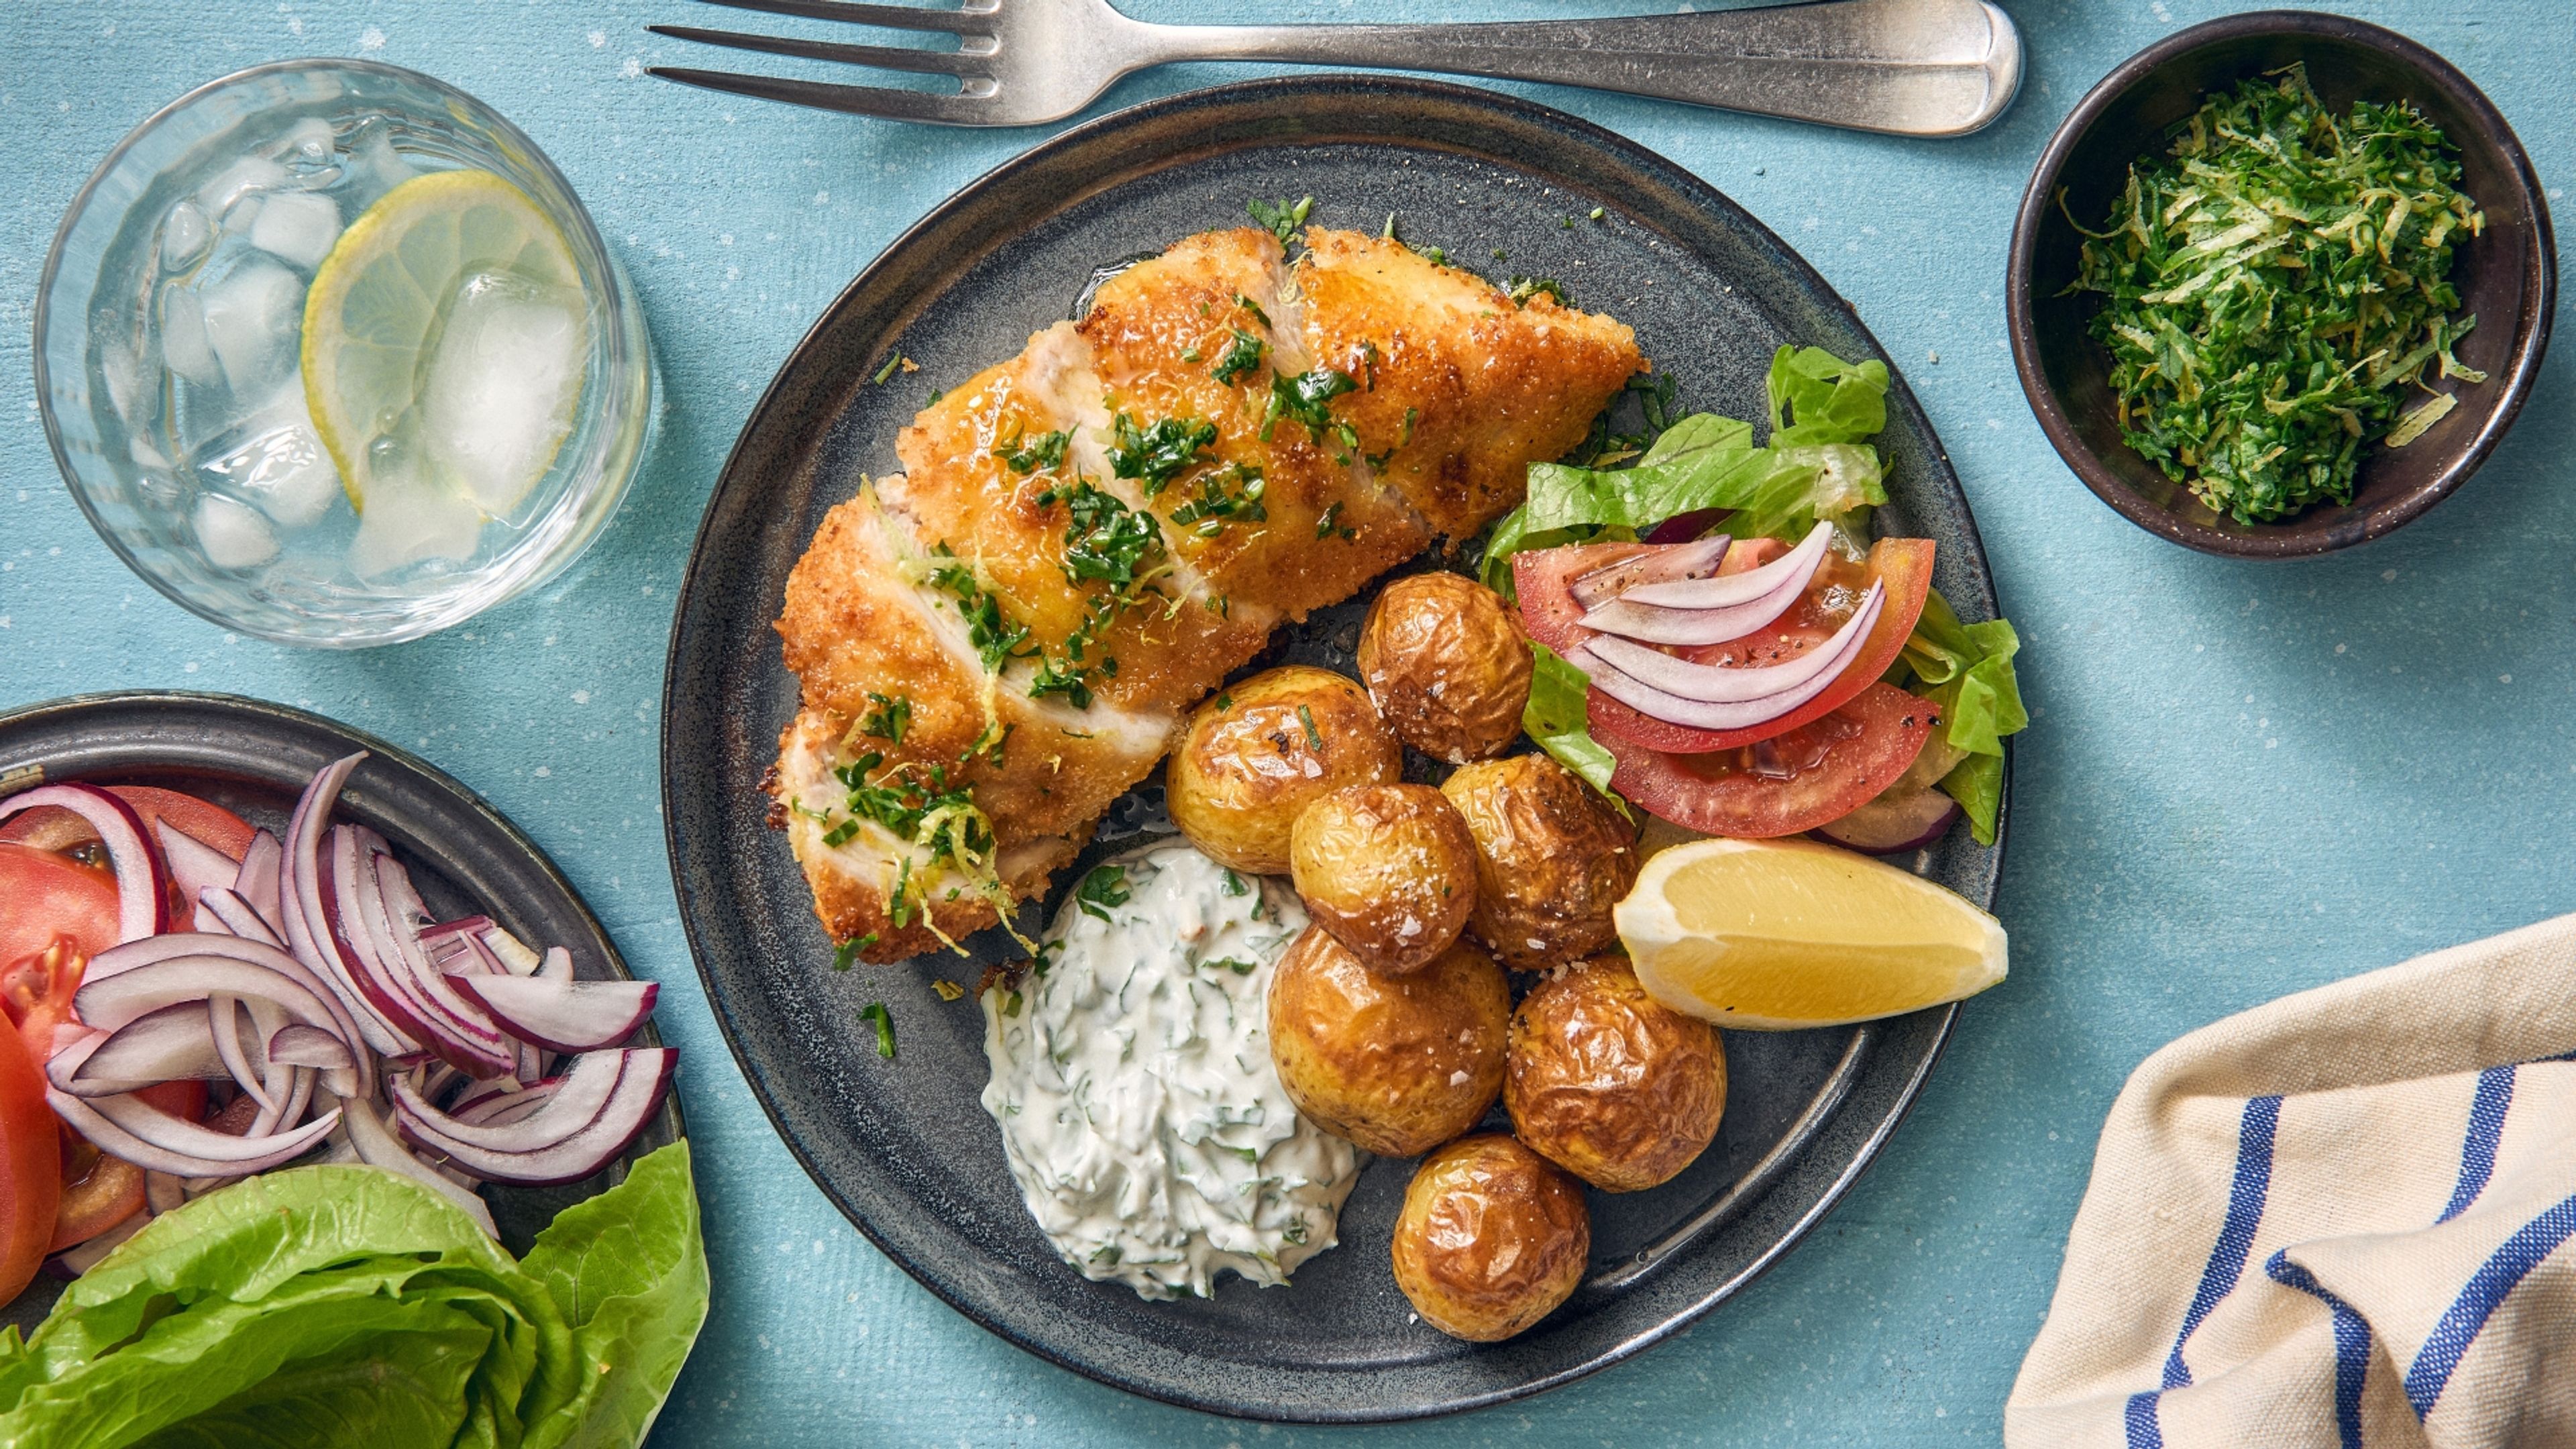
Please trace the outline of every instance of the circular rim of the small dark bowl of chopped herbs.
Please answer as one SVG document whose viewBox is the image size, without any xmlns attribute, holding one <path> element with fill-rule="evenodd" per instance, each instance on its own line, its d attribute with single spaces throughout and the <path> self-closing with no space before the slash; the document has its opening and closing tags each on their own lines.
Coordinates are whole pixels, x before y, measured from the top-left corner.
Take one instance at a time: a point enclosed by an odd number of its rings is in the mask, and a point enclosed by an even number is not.
<svg viewBox="0 0 2576 1449">
<path fill-rule="evenodd" d="M 2432 88 L 2450 95 L 2452 103 L 2476 119 L 2478 137 L 2463 144 L 2486 144 L 2496 152 L 2504 170 L 2514 178 L 2514 188 L 2522 193 L 2522 204 L 2532 217 L 2530 242 L 2519 258 L 2519 266 L 2527 273 L 2527 304 L 2514 325 L 2506 374 L 2496 379 L 2501 384 L 2496 410 L 2460 449 L 2450 467 L 2445 467 L 2432 482 L 2360 513 L 2352 529 L 2293 534 L 2272 523 L 2254 523 L 2254 531 L 2244 534 L 2213 529 L 2148 503 L 2125 480 L 2112 474 L 2099 454 L 2094 454 L 2092 446 L 2076 433 L 2074 418 L 2069 418 L 2063 400 L 2040 369 L 2038 327 L 2030 297 L 2032 253 L 2038 248 L 2040 227 L 2056 206 L 2058 178 L 2063 175 L 2076 144 L 2092 131 L 2112 103 L 2128 95 L 2138 83 L 2148 80 L 2166 62 L 2218 41 L 2236 41 L 2246 36 L 2316 36 L 2354 41 L 2411 67 Z M 2411 523 L 2434 503 L 2458 492 L 2460 485 L 2478 472 L 2488 454 L 2496 451 L 2496 443 L 2504 441 L 2504 433 L 2512 431 L 2514 420 L 2522 415 L 2522 405 L 2530 400 L 2532 384 L 2540 376 L 2540 364 L 2548 356 L 2550 322 L 2558 312 L 2558 240 L 2550 227 L 2548 193 L 2540 188 L 2532 157 L 2522 150 L 2522 139 L 2514 134 L 2512 124 L 2506 124 L 2504 111 L 2499 111 L 2496 103 L 2488 101 L 2486 90 L 2460 72 L 2460 67 L 2442 59 L 2421 41 L 2370 21 L 2354 21 L 2349 15 L 2331 15 L 2324 10 L 2249 10 L 2244 15 L 2221 15 L 2215 21 L 2187 26 L 2123 59 L 2110 70 L 2110 75 L 2097 80 L 2081 101 L 2076 101 L 2063 121 L 2058 121 L 2058 129 L 2040 150 L 2040 160 L 2030 173 L 2030 186 L 2022 191 L 2022 206 L 2012 222 L 2012 250 L 2004 263 L 2004 333 L 2012 343 L 2012 369 L 2020 374 L 2022 397 L 2038 415 L 2048 443 L 2061 459 L 2066 459 L 2066 467 L 2074 469 L 2094 498 L 2148 534 L 2205 554 L 2241 559 L 2316 557 L 2380 539 Z"/>
</svg>

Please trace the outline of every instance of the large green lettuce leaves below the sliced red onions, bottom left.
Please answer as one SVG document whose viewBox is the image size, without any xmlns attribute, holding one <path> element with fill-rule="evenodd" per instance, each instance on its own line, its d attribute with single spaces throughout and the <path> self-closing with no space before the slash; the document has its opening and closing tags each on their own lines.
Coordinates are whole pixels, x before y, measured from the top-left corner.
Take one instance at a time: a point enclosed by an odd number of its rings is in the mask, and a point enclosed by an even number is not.
<svg viewBox="0 0 2576 1449">
<path fill-rule="evenodd" d="M 33 1336 L 0 1333 L 0 1444 L 634 1444 L 706 1312 L 685 1145 L 572 1212 L 572 1240 L 585 1222 L 629 1235 L 618 1271 L 580 1250 L 564 1269 L 562 1248 L 526 1269 L 381 1168 L 206 1194 L 108 1253 Z M 636 1299 L 652 1310 L 618 1310 Z"/>
</svg>

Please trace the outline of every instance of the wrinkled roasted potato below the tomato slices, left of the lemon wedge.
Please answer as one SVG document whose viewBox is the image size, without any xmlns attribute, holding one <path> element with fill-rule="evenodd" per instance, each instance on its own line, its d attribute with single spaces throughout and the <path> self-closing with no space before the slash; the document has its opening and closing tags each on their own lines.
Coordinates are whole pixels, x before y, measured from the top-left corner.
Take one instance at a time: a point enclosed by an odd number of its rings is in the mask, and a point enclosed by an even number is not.
<svg viewBox="0 0 2576 1449">
<path fill-rule="evenodd" d="M 1458 768 L 1440 784 L 1476 835 L 1468 931 L 1535 972 L 1618 941 L 1610 908 L 1636 887 L 1636 825 L 1548 755 Z"/>
</svg>

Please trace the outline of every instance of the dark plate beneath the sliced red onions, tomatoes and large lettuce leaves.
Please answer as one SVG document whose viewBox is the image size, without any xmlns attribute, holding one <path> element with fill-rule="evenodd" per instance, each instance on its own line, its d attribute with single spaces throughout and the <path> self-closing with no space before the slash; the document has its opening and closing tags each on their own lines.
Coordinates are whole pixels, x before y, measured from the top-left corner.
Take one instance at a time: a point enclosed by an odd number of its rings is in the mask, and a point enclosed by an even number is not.
<svg viewBox="0 0 2576 1449">
<path fill-rule="evenodd" d="M 536 841 L 471 789 L 374 735 L 229 694 L 82 694 L 0 714 L 0 779 L 10 789 L 41 784 L 18 773 L 31 766 L 44 771 L 44 781 L 157 784 L 206 797 L 270 830 L 286 828 L 314 771 L 350 750 L 368 750 L 368 758 L 350 771 L 335 817 L 392 841 L 440 920 L 484 913 L 520 941 L 569 949 L 572 969 L 585 980 L 634 975 Z M 636 1042 L 659 1047 L 662 1036 L 647 1024 Z M 680 1134 L 680 1098 L 672 1096 L 636 1145 L 592 1178 L 551 1189 L 484 1189 L 502 1245 L 526 1253 L 556 1212 L 608 1191 L 626 1178 L 634 1158 Z M 0 1310 L 0 1323 L 33 1328 L 62 1287 L 64 1279 L 39 1274 Z"/>
</svg>

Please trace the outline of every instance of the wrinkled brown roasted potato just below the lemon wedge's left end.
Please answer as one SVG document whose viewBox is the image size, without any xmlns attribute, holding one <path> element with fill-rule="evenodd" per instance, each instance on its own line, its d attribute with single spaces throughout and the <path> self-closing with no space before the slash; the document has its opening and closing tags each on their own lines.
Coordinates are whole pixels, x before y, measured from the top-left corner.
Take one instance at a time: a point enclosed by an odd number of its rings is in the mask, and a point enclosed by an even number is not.
<svg viewBox="0 0 2576 1449">
<path fill-rule="evenodd" d="M 1502 1104 L 1540 1158 L 1641 1191 L 1716 1140 L 1726 1049 L 1705 1021 L 1656 1006 L 1623 957 L 1597 957 L 1520 998 Z"/>
</svg>

